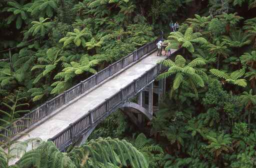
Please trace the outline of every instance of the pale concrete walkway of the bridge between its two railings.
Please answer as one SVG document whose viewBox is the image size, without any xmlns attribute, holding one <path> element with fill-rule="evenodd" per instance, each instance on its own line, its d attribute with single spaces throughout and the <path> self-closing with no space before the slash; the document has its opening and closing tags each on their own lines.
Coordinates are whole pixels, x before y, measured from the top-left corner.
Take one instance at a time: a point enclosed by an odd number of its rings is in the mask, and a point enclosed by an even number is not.
<svg viewBox="0 0 256 168">
<path fill-rule="evenodd" d="M 174 49 L 172 50 L 172 52 Z M 17 140 L 23 141 L 28 138 L 39 137 L 42 140 L 47 140 L 58 132 L 66 128 L 70 123 L 77 120 L 79 117 L 88 112 L 88 110 L 102 103 L 104 99 L 110 97 L 131 83 L 134 79 L 143 74 L 146 70 L 153 67 L 157 61 L 164 59 L 165 56 L 156 56 L 156 52 L 151 53 L 144 59 L 140 60 L 136 64 L 133 64 L 129 68 L 120 72 L 112 79 L 106 81 L 102 85 L 99 85 L 91 92 L 80 97 L 77 101 L 68 105 L 66 108 L 58 111 L 57 114 L 48 118 L 42 124 L 31 129 L 27 134 L 20 137 Z"/>
</svg>

